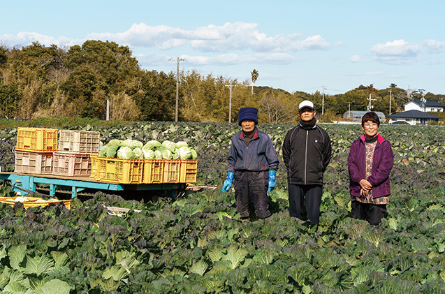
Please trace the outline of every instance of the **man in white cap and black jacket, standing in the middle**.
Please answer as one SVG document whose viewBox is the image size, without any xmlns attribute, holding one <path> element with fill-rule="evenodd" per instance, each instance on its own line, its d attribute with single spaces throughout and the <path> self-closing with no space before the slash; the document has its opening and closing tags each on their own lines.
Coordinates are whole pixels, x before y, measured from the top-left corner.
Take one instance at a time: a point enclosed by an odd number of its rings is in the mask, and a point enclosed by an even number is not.
<svg viewBox="0 0 445 294">
<path fill-rule="evenodd" d="M 330 138 L 316 124 L 314 104 L 302 101 L 298 107 L 300 123 L 284 138 L 283 161 L 289 186 L 289 215 L 301 219 L 306 201 L 307 219 L 319 223 L 323 173 L 330 161 Z"/>
</svg>

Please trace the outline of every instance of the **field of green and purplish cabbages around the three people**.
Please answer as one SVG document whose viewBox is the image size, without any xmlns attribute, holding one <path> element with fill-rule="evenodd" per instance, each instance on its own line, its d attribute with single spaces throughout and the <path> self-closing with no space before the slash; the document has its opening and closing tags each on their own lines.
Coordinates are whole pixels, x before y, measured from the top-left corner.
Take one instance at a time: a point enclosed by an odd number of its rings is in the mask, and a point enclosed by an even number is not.
<svg viewBox="0 0 445 294">
<path fill-rule="evenodd" d="M 259 124 L 279 159 L 292 124 Z M 241 221 L 221 193 L 236 124 L 138 122 L 87 131 L 110 140 L 184 141 L 198 182 L 218 189 L 136 198 L 103 192 L 71 210 L 0 203 L 2 293 L 444 293 L 445 128 L 381 126 L 393 145 L 388 215 L 351 219 L 346 159 L 358 125 L 323 124 L 333 142 L 319 227 L 290 219 L 280 163 L 272 216 Z M 1 170 L 13 170 L 15 129 L 1 130 Z M 11 195 L 8 184 L 0 196 Z M 138 200 L 136 200 L 138 199 Z M 113 213 L 104 208 L 130 209 Z M 135 211 L 136 210 L 136 211 Z"/>
</svg>

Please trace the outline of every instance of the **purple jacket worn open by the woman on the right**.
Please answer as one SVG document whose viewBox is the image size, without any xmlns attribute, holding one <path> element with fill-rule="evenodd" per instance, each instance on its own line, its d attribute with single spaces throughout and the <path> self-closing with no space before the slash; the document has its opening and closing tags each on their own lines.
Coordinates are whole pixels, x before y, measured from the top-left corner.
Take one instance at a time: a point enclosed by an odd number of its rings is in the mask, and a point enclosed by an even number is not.
<svg viewBox="0 0 445 294">
<path fill-rule="evenodd" d="M 360 196 L 361 179 L 366 178 L 365 163 L 365 135 L 352 142 L 348 156 L 349 193 Z M 378 134 L 377 145 L 372 159 L 372 174 L 367 180 L 372 184 L 372 198 L 379 198 L 391 194 L 389 187 L 389 173 L 393 168 L 394 154 L 391 143 Z"/>
</svg>

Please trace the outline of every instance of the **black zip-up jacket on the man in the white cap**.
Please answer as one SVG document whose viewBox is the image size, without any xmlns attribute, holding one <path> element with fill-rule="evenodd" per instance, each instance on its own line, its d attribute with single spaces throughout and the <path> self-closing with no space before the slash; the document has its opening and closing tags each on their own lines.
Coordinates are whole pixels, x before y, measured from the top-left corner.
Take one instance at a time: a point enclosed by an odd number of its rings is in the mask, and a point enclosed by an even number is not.
<svg viewBox="0 0 445 294">
<path fill-rule="evenodd" d="M 323 184 L 331 154 L 330 138 L 320 126 L 305 130 L 298 124 L 286 134 L 283 161 L 289 184 Z"/>
</svg>

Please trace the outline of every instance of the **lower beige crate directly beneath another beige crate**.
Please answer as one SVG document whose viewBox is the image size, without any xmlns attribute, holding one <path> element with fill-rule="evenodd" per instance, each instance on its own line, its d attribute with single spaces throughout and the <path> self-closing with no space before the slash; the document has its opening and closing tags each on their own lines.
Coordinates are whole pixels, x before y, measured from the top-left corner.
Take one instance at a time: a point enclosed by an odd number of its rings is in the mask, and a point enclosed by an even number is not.
<svg viewBox="0 0 445 294">
<path fill-rule="evenodd" d="M 52 154 L 52 175 L 89 177 L 92 162 L 89 154 L 54 152 Z"/>
</svg>

